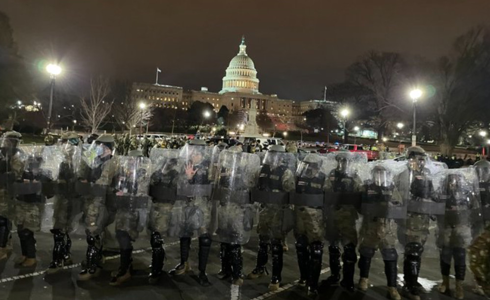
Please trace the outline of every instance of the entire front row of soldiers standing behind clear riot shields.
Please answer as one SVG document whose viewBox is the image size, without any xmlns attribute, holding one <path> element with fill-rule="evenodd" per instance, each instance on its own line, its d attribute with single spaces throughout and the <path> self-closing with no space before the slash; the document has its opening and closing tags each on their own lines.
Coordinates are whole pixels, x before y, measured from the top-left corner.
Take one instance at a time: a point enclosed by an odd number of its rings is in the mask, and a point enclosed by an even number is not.
<svg viewBox="0 0 490 300">
<path fill-rule="evenodd" d="M 284 240 L 293 231 L 299 284 L 316 297 L 320 286 L 369 289 L 371 260 L 383 258 L 390 299 L 420 299 L 418 275 L 424 248 L 439 249 L 441 293 L 449 291 L 454 262 L 456 299 L 464 299 L 466 257 L 481 293 L 490 295 L 490 163 L 449 169 L 433 162 L 421 147 L 409 147 L 406 161 L 367 162 L 365 154 L 337 151 L 300 156 L 297 144 L 251 142 L 229 146 L 204 139 L 154 143 L 128 135 L 99 136 L 82 143 L 66 132 L 49 146 L 21 146 L 22 136 L 0 138 L 0 260 L 12 252 L 12 224 L 21 253 L 15 263 L 36 264 L 35 234 L 47 199 L 54 211 L 52 262 L 48 274 L 72 263 L 73 218 L 83 216 L 86 257 L 78 280 L 90 280 L 103 268 L 104 230 L 115 224 L 120 267 L 110 285 L 131 279 L 133 243 L 150 234 L 149 282 L 163 273 L 165 243 L 180 241 L 180 263 L 169 273 L 190 271 L 192 237 L 198 238 L 198 280 L 209 286 L 206 265 L 212 242 L 219 243 L 218 278 L 242 285 L 272 272 L 269 290 L 282 283 Z M 158 146 L 159 145 L 159 146 Z M 78 201 L 75 201 L 77 199 Z M 244 273 L 241 248 L 249 243 L 258 216 L 258 252 Z M 148 219 L 147 223 L 142 220 Z M 436 245 L 428 245 L 430 223 L 437 224 Z M 361 223 L 360 228 L 357 224 Z M 403 245 L 404 286 L 397 286 L 397 245 Z M 319 282 L 324 245 L 330 276 Z M 342 264 L 341 264 L 342 262 Z"/>
</svg>

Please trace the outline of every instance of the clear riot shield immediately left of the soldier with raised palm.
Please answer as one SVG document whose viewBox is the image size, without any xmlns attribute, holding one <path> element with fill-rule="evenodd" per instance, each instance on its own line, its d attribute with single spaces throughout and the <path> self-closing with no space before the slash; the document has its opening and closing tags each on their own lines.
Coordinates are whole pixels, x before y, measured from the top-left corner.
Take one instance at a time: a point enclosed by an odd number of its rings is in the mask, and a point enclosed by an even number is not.
<svg viewBox="0 0 490 300">
<path fill-rule="evenodd" d="M 181 169 L 179 154 L 178 149 L 162 148 L 155 148 L 150 154 L 152 175 L 149 194 L 153 206 L 148 225 L 152 232 L 157 231 L 162 236 L 179 236 L 182 202 L 187 199 L 177 195 Z"/>
</svg>

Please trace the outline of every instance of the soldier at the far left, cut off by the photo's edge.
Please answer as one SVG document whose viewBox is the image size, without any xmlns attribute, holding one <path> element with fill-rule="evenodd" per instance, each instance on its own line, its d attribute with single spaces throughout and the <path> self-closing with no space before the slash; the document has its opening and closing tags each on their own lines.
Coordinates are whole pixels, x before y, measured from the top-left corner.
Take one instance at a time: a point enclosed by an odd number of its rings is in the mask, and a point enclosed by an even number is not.
<svg viewBox="0 0 490 300">
<path fill-rule="evenodd" d="M 12 252 L 13 184 L 22 178 L 24 170 L 18 156 L 21 138 L 22 135 L 15 131 L 6 132 L 0 137 L 0 261 Z"/>
</svg>

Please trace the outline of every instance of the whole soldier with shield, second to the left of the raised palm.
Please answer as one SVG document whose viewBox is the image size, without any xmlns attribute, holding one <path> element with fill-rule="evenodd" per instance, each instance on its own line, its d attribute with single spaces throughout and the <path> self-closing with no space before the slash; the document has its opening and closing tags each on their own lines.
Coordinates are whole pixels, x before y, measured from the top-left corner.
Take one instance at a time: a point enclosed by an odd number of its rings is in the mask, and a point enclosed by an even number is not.
<svg viewBox="0 0 490 300">
<path fill-rule="evenodd" d="M 109 203 L 115 208 L 116 239 L 119 243 L 120 266 L 112 274 L 110 285 L 121 285 L 131 279 L 133 250 L 139 232 L 146 225 L 148 216 L 148 189 L 151 161 L 143 157 L 141 150 L 131 150 L 128 156 L 118 156 L 113 162 L 114 177 L 111 180 Z"/>
</svg>

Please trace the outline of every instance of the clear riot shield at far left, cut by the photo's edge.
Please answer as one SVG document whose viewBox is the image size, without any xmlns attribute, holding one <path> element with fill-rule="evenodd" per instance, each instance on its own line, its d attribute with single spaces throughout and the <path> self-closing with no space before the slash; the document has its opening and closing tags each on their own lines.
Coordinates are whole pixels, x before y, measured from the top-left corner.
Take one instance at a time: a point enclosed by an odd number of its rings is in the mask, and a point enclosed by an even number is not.
<svg viewBox="0 0 490 300">
<path fill-rule="evenodd" d="M 0 217 L 4 218 L 12 217 L 15 199 L 13 186 L 24 171 L 19 159 L 18 142 L 16 138 L 0 138 Z"/>
</svg>

